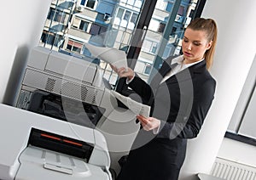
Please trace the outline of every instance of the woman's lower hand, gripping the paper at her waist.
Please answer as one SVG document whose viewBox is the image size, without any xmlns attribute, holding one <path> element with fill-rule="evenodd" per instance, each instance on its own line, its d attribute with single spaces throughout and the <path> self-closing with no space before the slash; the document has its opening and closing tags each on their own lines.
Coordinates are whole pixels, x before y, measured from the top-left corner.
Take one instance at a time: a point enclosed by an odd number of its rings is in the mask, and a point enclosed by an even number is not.
<svg viewBox="0 0 256 180">
<path fill-rule="evenodd" d="M 153 129 L 157 129 L 160 126 L 160 120 L 154 117 L 144 117 L 143 115 L 137 115 L 138 121 L 143 125 L 143 129 L 146 131 L 150 131 Z"/>
</svg>

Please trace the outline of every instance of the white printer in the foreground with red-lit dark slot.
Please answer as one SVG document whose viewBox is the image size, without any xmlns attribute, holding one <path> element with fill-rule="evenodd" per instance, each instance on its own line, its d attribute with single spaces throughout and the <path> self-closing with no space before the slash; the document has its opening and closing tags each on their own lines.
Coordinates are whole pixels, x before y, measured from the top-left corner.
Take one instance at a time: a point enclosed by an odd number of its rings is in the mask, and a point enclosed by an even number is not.
<svg viewBox="0 0 256 180">
<path fill-rule="evenodd" d="M 107 143 L 96 129 L 6 104 L 0 112 L 0 179 L 112 179 Z"/>
</svg>

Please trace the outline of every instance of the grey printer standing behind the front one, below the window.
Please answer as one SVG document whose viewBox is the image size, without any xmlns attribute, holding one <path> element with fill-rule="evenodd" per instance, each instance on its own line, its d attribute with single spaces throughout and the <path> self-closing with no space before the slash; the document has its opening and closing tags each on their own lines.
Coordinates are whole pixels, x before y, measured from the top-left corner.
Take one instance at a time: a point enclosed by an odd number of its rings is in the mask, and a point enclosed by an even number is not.
<svg viewBox="0 0 256 180">
<path fill-rule="evenodd" d="M 13 106 L 19 109 L 101 132 L 111 167 L 119 172 L 118 160 L 131 149 L 140 125 L 131 110 L 119 107 L 108 83 L 104 83 L 99 65 L 35 47 L 16 94 Z"/>
</svg>

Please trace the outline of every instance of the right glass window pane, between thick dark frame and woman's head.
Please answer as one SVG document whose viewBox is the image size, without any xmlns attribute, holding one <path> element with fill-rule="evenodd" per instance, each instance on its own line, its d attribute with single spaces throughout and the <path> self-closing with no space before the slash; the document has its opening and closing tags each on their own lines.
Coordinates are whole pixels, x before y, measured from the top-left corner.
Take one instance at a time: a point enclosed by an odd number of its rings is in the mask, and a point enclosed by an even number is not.
<svg viewBox="0 0 256 180">
<path fill-rule="evenodd" d="M 157 1 L 135 66 L 137 74 L 146 82 L 153 76 L 152 69 L 160 68 L 163 59 L 180 53 L 184 28 L 189 24 L 197 3 L 197 1 L 191 2 L 190 0 Z M 174 12 L 176 14 L 173 14 Z M 149 68 L 151 69 L 148 70 Z"/>
</svg>

